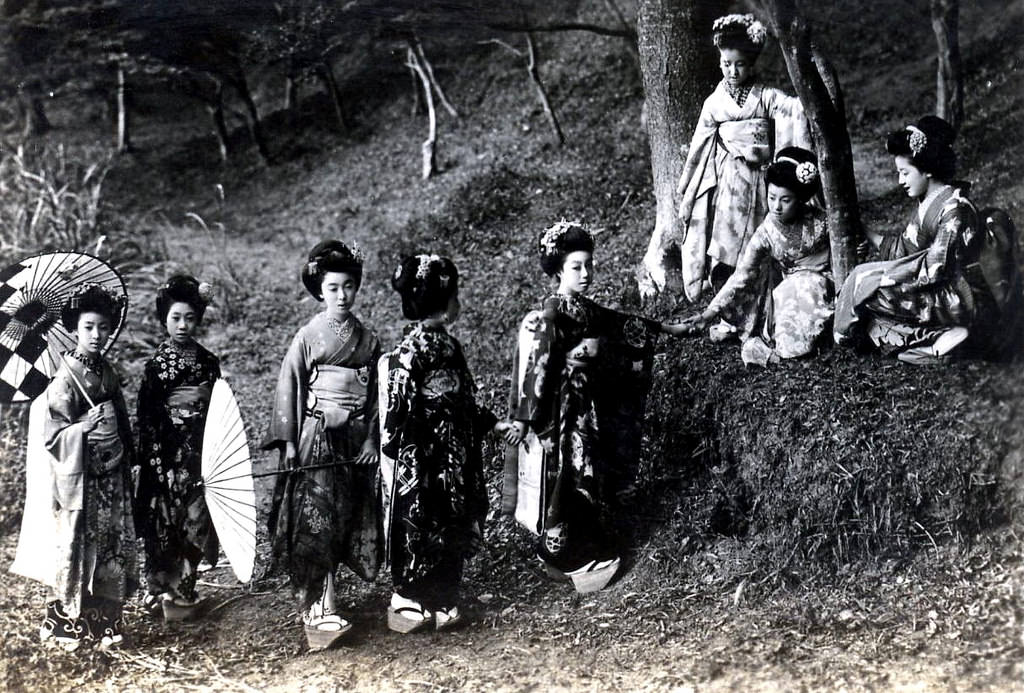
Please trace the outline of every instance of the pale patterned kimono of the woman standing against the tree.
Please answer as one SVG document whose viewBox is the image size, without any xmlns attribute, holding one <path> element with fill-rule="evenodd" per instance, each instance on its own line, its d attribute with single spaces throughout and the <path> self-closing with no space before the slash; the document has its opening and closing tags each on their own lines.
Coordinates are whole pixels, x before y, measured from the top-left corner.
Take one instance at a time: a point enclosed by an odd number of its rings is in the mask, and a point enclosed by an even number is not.
<svg viewBox="0 0 1024 693">
<path fill-rule="evenodd" d="M 691 301 L 717 265 L 736 266 L 764 219 L 764 169 L 773 153 L 790 145 L 813 148 L 799 98 L 757 83 L 739 94 L 744 92 L 737 103 L 723 80 L 705 100 L 677 187 L 684 237 L 651 239 L 663 249 L 680 244 L 683 287 Z"/>
</svg>

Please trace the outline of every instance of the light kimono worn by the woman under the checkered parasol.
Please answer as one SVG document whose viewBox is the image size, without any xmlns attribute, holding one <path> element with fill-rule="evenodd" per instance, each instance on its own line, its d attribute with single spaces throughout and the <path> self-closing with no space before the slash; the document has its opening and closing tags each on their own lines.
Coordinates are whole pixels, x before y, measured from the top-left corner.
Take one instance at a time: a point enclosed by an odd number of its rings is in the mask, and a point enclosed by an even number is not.
<svg viewBox="0 0 1024 693">
<path fill-rule="evenodd" d="M 57 614 L 83 616 L 98 638 L 120 620 L 122 605 L 137 587 L 128 413 L 118 376 L 101 357 L 66 354 L 43 397 L 42 440 L 51 456 L 56 536 L 39 540 L 56 542 Z M 103 423 L 86 434 L 80 422 L 92 406 L 89 399 L 102 407 Z M 33 547 L 19 547 L 23 551 Z"/>
</svg>

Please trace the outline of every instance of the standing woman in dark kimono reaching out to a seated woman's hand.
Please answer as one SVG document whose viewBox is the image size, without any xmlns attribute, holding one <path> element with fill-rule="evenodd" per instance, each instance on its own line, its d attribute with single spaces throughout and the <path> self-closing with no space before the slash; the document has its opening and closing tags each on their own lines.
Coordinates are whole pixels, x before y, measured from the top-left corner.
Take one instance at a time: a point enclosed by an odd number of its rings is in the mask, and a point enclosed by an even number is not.
<svg viewBox="0 0 1024 693">
<path fill-rule="evenodd" d="M 603 589 L 618 570 L 608 506 L 632 484 L 656 336 L 668 324 L 603 308 L 584 295 L 594 240 L 561 221 L 541 236 L 541 267 L 556 293 L 529 312 L 513 365 L 511 442 L 504 508 L 539 534 L 538 556 L 579 592 Z"/>
</svg>

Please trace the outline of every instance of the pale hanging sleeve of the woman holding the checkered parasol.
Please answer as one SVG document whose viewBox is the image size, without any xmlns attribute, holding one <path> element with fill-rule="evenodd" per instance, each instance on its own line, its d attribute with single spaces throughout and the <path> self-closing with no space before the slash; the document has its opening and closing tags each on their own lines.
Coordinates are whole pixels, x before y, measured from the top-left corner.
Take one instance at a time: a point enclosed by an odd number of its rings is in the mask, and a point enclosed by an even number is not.
<svg viewBox="0 0 1024 693">
<path fill-rule="evenodd" d="M 75 385 L 61 369 L 46 389 L 43 442 L 53 457 L 53 494 L 65 510 L 81 510 L 85 492 L 86 433 L 78 418 L 85 412 Z"/>
</svg>

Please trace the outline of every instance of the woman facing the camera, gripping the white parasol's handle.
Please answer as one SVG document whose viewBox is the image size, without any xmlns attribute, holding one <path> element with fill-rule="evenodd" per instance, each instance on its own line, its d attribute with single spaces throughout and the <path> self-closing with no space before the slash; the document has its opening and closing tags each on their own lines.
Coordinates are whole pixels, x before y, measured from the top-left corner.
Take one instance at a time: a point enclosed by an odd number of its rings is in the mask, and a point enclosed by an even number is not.
<svg viewBox="0 0 1024 693">
<path fill-rule="evenodd" d="M 362 256 L 340 241 L 309 253 L 302 284 L 324 310 L 299 329 L 281 364 L 264 449 L 288 470 L 273 491 L 269 528 L 276 561 L 299 598 L 310 649 L 351 629 L 338 613 L 335 572 L 365 580 L 382 560 L 377 481 L 377 336 L 352 313 Z"/>
</svg>

